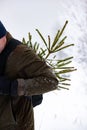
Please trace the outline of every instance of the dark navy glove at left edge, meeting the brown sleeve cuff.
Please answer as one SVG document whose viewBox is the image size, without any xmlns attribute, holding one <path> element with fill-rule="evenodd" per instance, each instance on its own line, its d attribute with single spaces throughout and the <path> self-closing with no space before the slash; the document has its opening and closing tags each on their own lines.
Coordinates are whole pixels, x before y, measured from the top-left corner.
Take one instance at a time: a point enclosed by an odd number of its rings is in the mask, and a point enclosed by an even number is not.
<svg viewBox="0 0 87 130">
<path fill-rule="evenodd" d="M 0 76 L 0 95 L 17 96 L 17 80 L 9 80 L 6 76 Z"/>
</svg>

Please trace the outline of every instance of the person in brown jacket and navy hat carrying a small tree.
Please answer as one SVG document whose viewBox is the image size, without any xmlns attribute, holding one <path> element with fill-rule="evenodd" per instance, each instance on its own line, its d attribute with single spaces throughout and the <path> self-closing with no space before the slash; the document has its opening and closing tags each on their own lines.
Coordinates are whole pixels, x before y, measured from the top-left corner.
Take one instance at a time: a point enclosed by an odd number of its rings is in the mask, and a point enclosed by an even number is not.
<svg viewBox="0 0 87 130">
<path fill-rule="evenodd" d="M 0 77 L 9 82 L 0 87 L 0 130 L 34 130 L 32 97 L 57 89 L 58 80 L 46 62 L 14 39 L 2 22 Z"/>
</svg>

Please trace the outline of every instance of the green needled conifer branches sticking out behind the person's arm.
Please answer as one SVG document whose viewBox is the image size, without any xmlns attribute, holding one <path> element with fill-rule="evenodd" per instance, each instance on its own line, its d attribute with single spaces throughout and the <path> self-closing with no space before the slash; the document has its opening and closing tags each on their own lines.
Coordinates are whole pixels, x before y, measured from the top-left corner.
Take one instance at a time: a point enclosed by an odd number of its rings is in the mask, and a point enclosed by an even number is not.
<svg viewBox="0 0 87 130">
<path fill-rule="evenodd" d="M 67 78 L 66 74 L 75 71 L 74 67 L 70 67 L 70 63 L 72 62 L 73 56 L 65 57 L 64 59 L 58 59 L 58 53 L 63 51 L 64 49 L 74 46 L 74 44 L 67 44 L 65 40 L 67 36 L 62 38 L 62 34 L 65 30 L 68 21 L 65 22 L 63 28 L 58 30 L 53 42 L 51 42 L 51 37 L 48 35 L 48 40 L 46 41 L 41 32 L 36 29 L 36 32 L 39 34 L 40 38 L 43 41 L 44 48 L 42 48 L 42 44 L 40 45 L 38 42 L 32 43 L 32 35 L 28 33 L 28 40 L 25 38 L 22 39 L 23 44 L 27 44 L 28 47 L 31 47 L 35 53 L 41 58 L 41 60 L 45 60 L 46 63 L 51 66 L 56 77 L 59 80 L 58 89 L 69 89 L 71 79 Z"/>
</svg>

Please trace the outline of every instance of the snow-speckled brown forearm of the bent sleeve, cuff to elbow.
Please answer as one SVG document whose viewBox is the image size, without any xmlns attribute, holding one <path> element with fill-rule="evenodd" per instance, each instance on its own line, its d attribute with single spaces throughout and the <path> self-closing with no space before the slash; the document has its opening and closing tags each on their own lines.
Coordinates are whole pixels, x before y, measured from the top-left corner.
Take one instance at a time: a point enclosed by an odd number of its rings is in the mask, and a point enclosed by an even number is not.
<svg viewBox="0 0 87 130">
<path fill-rule="evenodd" d="M 57 89 L 58 80 L 48 77 L 18 79 L 18 95 L 32 96 Z"/>
</svg>

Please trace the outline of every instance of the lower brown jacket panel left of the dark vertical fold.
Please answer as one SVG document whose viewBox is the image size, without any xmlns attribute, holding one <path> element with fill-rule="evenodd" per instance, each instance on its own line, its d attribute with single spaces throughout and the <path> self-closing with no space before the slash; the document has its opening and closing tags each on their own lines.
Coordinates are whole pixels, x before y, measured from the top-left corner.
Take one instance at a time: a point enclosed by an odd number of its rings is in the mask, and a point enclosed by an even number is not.
<svg viewBox="0 0 87 130">
<path fill-rule="evenodd" d="M 11 107 L 11 97 L 0 95 L 0 130 L 4 130 L 4 128 L 7 128 L 9 125 L 15 125 Z"/>
</svg>

